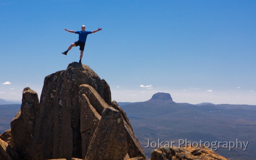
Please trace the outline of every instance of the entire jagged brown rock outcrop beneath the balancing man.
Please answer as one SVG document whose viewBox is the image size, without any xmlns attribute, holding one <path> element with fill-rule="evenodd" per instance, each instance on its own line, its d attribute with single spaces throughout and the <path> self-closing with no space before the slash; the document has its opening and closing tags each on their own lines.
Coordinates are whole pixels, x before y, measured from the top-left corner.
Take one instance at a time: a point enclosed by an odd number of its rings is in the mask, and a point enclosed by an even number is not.
<svg viewBox="0 0 256 160">
<path fill-rule="evenodd" d="M 111 103 L 109 85 L 77 62 L 45 77 L 40 104 L 25 88 L 11 127 L 1 135 L 9 142 L 1 147 L 6 159 L 145 159 L 126 113 Z M 13 138 L 16 157 L 5 154 Z"/>
</svg>

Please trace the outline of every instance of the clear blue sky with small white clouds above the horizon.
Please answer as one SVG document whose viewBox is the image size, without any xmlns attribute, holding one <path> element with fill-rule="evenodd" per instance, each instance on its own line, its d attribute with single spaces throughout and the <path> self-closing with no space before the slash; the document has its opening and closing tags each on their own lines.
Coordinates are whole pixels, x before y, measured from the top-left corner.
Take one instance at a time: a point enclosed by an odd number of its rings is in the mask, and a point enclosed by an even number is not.
<svg viewBox="0 0 256 160">
<path fill-rule="evenodd" d="M 112 100 L 170 93 L 179 103 L 256 105 L 255 0 L 1 0 L 0 98 L 41 95 L 44 77 L 79 61 L 111 86 Z"/>
</svg>

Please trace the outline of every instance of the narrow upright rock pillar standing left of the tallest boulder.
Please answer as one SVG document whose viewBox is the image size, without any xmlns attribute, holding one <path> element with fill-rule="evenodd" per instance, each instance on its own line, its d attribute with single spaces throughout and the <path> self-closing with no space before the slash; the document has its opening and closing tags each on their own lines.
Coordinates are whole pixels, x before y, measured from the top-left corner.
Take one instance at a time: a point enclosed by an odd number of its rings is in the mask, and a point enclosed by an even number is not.
<svg viewBox="0 0 256 160">
<path fill-rule="evenodd" d="M 29 87 L 23 89 L 21 110 L 11 121 L 14 149 L 22 159 L 31 159 L 31 142 L 39 107 L 38 95 Z"/>
</svg>

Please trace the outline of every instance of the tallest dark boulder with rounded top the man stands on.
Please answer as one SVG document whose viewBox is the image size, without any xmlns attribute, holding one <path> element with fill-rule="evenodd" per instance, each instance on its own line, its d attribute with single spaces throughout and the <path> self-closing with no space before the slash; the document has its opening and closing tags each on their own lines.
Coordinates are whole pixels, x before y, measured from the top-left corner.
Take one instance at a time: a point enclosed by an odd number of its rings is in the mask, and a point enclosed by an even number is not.
<svg viewBox="0 0 256 160">
<path fill-rule="evenodd" d="M 81 84 L 89 84 L 103 98 L 100 77 L 77 62 L 44 79 L 32 142 L 33 159 L 82 157 L 78 95 Z"/>
</svg>

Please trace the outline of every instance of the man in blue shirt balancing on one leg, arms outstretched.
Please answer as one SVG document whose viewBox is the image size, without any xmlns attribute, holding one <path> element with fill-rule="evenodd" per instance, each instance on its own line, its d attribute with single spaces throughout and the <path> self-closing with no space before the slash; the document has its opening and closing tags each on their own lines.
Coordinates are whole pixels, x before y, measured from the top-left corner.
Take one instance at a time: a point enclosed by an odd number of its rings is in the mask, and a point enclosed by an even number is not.
<svg viewBox="0 0 256 160">
<path fill-rule="evenodd" d="M 65 28 L 65 31 L 68 31 L 70 33 L 75 33 L 75 34 L 79 34 L 79 39 L 78 41 L 76 41 L 75 43 L 72 43 L 68 50 L 64 51 L 62 54 L 64 55 L 67 55 L 68 51 L 74 47 L 74 46 L 80 46 L 79 50 L 80 50 L 80 60 L 79 60 L 79 63 L 82 64 L 81 60 L 82 60 L 82 55 L 84 53 L 84 47 L 85 47 L 85 42 L 86 42 L 86 38 L 87 38 L 87 35 L 88 34 L 91 34 L 91 33 L 96 33 L 98 31 L 101 31 L 102 28 L 98 28 L 97 30 L 95 31 L 85 31 L 85 26 L 82 25 L 82 31 L 69 31 L 68 29 Z"/>
</svg>

